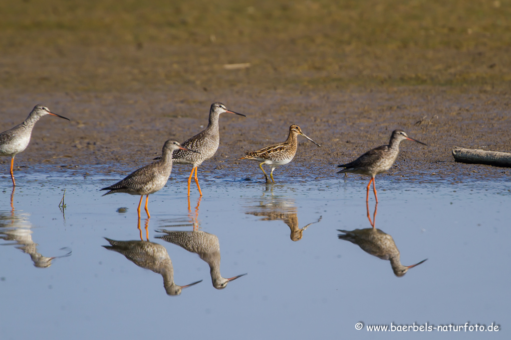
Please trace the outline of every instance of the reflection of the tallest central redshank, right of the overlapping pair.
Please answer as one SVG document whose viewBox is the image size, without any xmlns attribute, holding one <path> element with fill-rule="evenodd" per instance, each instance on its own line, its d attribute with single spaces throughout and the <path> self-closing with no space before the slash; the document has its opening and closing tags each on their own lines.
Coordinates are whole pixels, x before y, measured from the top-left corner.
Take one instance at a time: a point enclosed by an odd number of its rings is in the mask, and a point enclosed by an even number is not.
<svg viewBox="0 0 511 340">
<path fill-rule="evenodd" d="M 156 238 L 173 243 L 188 250 L 189 252 L 198 254 L 199 257 L 205 261 L 208 266 L 210 266 L 210 275 L 213 286 L 216 289 L 224 289 L 230 281 L 234 281 L 247 274 L 245 273 L 230 278 L 225 278 L 220 275 L 220 243 L 218 242 L 216 235 L 199 230 L 199 205 L 200 198 L 197 201 L 197 206 L 195 208 L 195 216 L 192 216 L 192 212 L 189 211 L 189 215 L 192 219 L 193 231 L 158 229 L 157 231 L 164 234 L 157 236 Z M 182 224 L 178 226 L 182 226 Z"/>
</svg>

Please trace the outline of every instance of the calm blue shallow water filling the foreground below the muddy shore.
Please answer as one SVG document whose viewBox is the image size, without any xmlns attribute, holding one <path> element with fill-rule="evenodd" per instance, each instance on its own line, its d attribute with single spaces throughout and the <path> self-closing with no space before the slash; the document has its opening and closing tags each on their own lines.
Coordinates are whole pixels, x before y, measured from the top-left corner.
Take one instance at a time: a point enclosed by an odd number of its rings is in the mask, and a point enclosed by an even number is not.
<svg viewBox="0 0 511 340">
<path fill-rule="evenodd" d="M 508 182 L 377 180 L 376 227 L 392 236 L 404 265 L 428 258 L 397 277 L 388 260 L 338 239 L 337 229 L 371 228 L 367 209 L 373 220 L 375 201 L 371 192 L 366 207 L 366 178 L 281 177 L 267 186 L 205 174 L 204 196 L 198 200 L 192 186 L 189 210 L 185 172 L 177 171 L 178 179 L 150 196 L 151 218 L 142 211 L 141 231 L 138 197 L 101 197 L 98 191 L 119 176 L 20 174 L 14 193 L 4 177 L 2 338 L 337 339 L 374 337 L 366 325 L 426 322 L 494 323 L 501 330 L 488 338 L 508 338 Z M 175 284 L 202 282 L 169 296 L 162 275 L 102 247 L 108 245 L 104 238 L 146 240 L 146 224 L 149 241 L 165 247 L 172 260 Z M 216 290 L 206 261 L 157 238 L 165 234 L 158 229 L 192 231 L 194 225 L 218 238 L 222 276 L 248 275 Z M 358 322 L 363 330 L 355 329 Z M 467 329 L 448 336 L 483 334 Z"/>
</svg>

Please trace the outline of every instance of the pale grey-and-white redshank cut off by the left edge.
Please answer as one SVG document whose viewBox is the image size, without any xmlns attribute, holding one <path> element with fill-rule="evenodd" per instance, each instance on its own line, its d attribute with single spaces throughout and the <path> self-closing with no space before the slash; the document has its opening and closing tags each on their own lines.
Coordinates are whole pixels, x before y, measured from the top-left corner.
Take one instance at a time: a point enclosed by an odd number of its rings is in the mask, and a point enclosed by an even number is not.
<svg viewBox="0 0 511 340">
<path fill-rule="evenodd" d="M 0 134 L 0 156 L 11 156 L 11 178 L 13 186 L 16 186 L 14 174 L 12 173 L 14 156 L 27 148 L 35 123 L 44 115 L 52 115 L 69 120 L 69 118 L 50 112 L 43 104 L 37 104 L 24 122 Z"/>
</svg>

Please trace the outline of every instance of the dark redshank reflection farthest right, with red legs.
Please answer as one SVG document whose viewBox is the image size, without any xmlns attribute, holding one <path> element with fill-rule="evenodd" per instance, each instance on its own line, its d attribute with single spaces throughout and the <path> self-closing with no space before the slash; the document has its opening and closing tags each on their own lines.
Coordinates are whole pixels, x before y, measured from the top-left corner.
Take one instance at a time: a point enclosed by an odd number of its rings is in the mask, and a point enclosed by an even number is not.
<svg viewBox="0 0 511 340">
<path fill-rule="evenodd" d="M 375 227 L 376 223 L 376 212 L 378 208 L 378 203 L 375 206 L 375 212 L 373 215 L 373 221 L 371 221 L 371 217 L 369 214 L 369 205 L 366 203 L 367 207 L 367 218 L 369 219 L 369 223 L 372 228 L 365 229 L 355 229 L 355 230 L 337 230 L 343 232 L 339 234 L 338 237 L 340 240 L 350 241 L 353 244 L 358 245 L 365 252 L 377 256 L 384 260 L 389 260 L 390 265 L 392 266 L 392 271 L 396 276 L 403 276 L 406 272 L 415 266 L 422 264 L 425 260 L 420 261 L 419 263 L 412 266 L 403 266 L 400 260 L 400 254 L 398 247 L 394 243 L 394 240 L 389 234 L 386 234 L 380 229 Z"/>
</svg>

